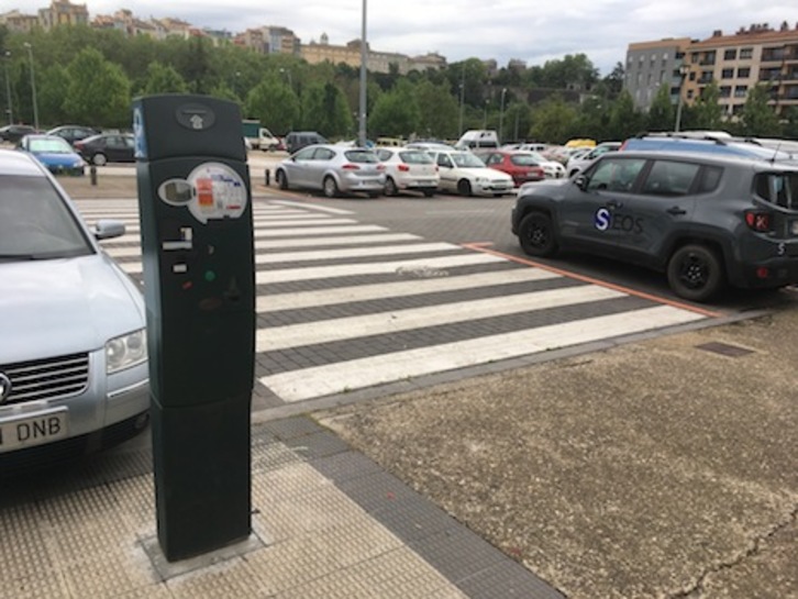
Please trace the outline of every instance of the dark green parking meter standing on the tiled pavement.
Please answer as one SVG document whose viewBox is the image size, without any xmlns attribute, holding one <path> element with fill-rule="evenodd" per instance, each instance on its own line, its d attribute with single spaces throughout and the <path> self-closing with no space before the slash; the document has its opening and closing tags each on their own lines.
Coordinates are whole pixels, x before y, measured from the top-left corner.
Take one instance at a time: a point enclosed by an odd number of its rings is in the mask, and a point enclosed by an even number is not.
<svg viewBox="0 0 798 599">
<path fill-rule="evenodd" d="M 169 562 L 251 533 L 252 196 L 239 107 L 134 100 L 158 542 Z"/>
</svg>

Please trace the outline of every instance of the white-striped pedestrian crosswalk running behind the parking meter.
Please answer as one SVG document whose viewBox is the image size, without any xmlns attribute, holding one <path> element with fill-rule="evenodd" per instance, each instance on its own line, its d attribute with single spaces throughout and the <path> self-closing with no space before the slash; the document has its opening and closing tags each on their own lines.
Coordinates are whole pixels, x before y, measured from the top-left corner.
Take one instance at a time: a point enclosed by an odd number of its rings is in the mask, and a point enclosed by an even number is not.
<svg viewBox="0 0 798 599">
<path fill-rule="evenodd" d="M 89 223 L 125 222 L 103 246 L 141 278 L 135 201 L 77 203 Z M 345 210 L 255 200 L 253 222 L 256 374 L 282 402 L 707 318 Z"/>
</svg>

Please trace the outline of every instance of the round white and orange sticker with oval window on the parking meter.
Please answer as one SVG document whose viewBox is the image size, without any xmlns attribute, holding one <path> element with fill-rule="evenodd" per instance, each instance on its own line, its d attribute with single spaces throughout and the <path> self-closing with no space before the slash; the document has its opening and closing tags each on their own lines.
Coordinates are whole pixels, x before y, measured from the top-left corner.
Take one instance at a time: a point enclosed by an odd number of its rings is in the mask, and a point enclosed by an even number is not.
<svg viewBox="0 0 798 599">
<path fill-rule="evenodd" d="M 164 181 L 158 197 L 168 204 L 187 207 L 203 224 L 213 219 L 237 219 L 247 201 L 244 180 L 221 163 L 204 163 L 186 179 Z"/>
</svg>

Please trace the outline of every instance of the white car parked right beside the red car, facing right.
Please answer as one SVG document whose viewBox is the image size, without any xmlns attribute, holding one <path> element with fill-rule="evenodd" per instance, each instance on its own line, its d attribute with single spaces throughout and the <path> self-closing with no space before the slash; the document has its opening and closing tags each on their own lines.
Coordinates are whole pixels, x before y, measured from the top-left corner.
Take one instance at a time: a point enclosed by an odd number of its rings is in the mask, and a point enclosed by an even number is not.
<svg viewBox="0 0 798 599">
<path fill-rule="evenodd" d="M 512 177 L 488 168 L 472 152 L 452 149 L 433 152 L 432 157 L 441 175 L 439 189 L 461 196 L 507 196 L 514 192 Z"/>
</svg>

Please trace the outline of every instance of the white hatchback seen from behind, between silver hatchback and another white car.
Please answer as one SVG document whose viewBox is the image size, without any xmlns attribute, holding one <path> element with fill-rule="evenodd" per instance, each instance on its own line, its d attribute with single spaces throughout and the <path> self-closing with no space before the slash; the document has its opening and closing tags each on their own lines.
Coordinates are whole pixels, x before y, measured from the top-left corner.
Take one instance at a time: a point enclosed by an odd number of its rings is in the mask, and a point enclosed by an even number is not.
<svg viewBox="0 0 798 599">
<path fill-rule="evenodd" d="M 435 193 L 441 176 L 426 152 L 412 147 L 378 147 L 377 157 L 385 165 L 385 195 L 419 191 L 428 198 Z"/>
</svg>

